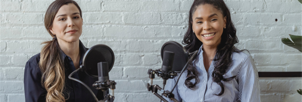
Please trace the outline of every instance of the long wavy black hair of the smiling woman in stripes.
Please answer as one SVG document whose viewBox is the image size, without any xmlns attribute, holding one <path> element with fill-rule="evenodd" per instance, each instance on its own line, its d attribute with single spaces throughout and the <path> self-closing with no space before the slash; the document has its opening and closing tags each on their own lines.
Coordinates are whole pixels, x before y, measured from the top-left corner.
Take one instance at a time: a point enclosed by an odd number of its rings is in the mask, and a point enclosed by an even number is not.
<svg viewBox="0 0 302 102">
<path fill-rule="evenodd" d="M 227 68 L 229 67 L 229 64 L 232 62 L 231 55 L 233 52 L 240 52 L 234 46 L 234 44 L 238 43 L 238 38 L 236 36 L 236 28 L 234 27 L 233 22 L 231 20 L 229 8 L 226 6 L 223 0 L 194 0 L 189 12 L 188 30 L 184 36 L 182 44 L 186 45 L 185 49 L 189 52 L 199 50 L 199 48 L 201 47 L 202 42 L 198 40 L 198 38 L 196 37 L 196 35 L 193 33 L 192 30 L 192 23 L 193 23 L 192 17 L 198 6 L 204 4 L 213 5 L 214 8 L 220 10 L 222 15 L 226 17 L 226 28 L 223 29 L 223 33 L 221 35 L 221 41 L 220 44 L 218 44 L 217 46 L 216 55 L 213 59 L 213 61 L 215 61 L 214 63 L 215 68 L 212 73 L 213 81 L 221 87 L 220 93 L 215 95 L 220 96 L 224 93 L 224 87 L 221 81 L 230 81 L 234 77 L 236 77 L 236 76 L 229 77 L 229 78 L 223 77 L 223 75 L 226 73 Z M 197 57 L 195 56 L 193 60 L 198 60 L 196 58 Z M 195 85 L 198 83 L 198 81 L 199 79 L 198 79 L 197 70 L 194 67 L 194 65 L 191 63 L 191 65 L 188 67 L 188 74 L 185 80 L 185 85 L 193 90 Z"/>
</svg>

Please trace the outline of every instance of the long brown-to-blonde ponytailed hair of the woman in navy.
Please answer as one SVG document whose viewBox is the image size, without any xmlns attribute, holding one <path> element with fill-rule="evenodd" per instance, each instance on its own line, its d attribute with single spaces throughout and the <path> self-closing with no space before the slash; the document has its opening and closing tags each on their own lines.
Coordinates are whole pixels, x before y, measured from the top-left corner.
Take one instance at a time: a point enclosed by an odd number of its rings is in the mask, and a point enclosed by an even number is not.
<svg viewBox="0 0 302 102">
<path fill-rule="evenodd" d="M 52 41 L 45 41 L 41 49 L 39 67 L 42 72 L 41 84 L 47 91 L 46 102 L 65 102 L 65 95 L 63 94 L 65 86 L 65 67 L 62 59 L 62 50 L 59 46 L 56 36 L 50 32 L 50 27 L 53 25 L 53 20 L 59 8 L 63 5 L 72 3 L 80 11 L 82 18 L 82 11 L 79 5 L 72 0 L 56 0 L 48 7 L 44 24 L 48 33 L 53 37 Z M 67 98 L 68 99 L 68 98 Z"/>
</svg>

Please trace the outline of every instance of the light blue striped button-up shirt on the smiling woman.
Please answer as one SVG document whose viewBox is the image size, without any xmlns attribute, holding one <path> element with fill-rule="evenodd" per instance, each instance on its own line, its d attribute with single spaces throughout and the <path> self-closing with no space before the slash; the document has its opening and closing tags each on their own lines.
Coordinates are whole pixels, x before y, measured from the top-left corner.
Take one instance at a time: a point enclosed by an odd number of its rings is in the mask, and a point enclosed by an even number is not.
<svg viewBox="0 0 302 102">
<path fill-rule="evenodd" d="M 230 67 L 223 75 L 224 78 L 236 76 L 233 80 L 225 82 L 221 81 L 224 86 L 224 93 L 219 94 L 221 87 L 213 82 L 212 72 L 214 71 L 214 61 L 212 61 L 208 72 L 203 64 L 203 50 L 200 47 L 197 58 L 193 61 L 196 70 L 199 73 L 199 82 L 194 87 L 194 90 L 189 89 L 185 85 L 187 70 L 184 71 L 179 79 L 177 86 L 172 92 L 175 99 L 182 102 L 260 102 L 259 77 L 253 58 L 244 52 L 232 54 L 232 62 Z M 198 60 L 197 60 L 198 59 Z M 197 62 L 196 62 L 197 61 Z M 169 79 L 165 90 L 171 91 L 177 77 Z M 191 80 L 193 82 L 193 80 Z M 169 102 L 174 102 L 167 97 L 164 97 Z"/>
</svg>

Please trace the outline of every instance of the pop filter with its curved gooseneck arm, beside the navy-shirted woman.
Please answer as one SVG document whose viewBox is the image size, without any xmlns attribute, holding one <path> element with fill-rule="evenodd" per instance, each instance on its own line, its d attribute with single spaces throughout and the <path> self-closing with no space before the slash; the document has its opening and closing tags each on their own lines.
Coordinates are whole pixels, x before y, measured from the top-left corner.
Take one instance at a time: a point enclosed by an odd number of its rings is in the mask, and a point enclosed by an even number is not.
<svg viewBox="0 0 302 102">
<path fill-rule="evenodd" d="M 80 68 L 77 69 L 76 71 L 73 71 L 68 76 L 69 79 L 77 81 L 80 84 L 84 85 L 89 90 L 89 92 L 92 94 L 92 96 L 95 98 L 96 102 L 104 102 L 104 101 L 103 100 L 99 101 L 98 98 L 93 93 L 93 91 L 85 83 L 83 83 L 79 79 L 73 78 L 71 76 L 73 74 L 75 74 L 77 71 L 81 70 L 81 71 L 85 71 L 85 73 L 91 77 L 98 77 L 98 63 L 100 63 L 100 62 L 108 63 L 108 65 L 105 67 L 105 68 L 108 68 L 108 69 L 106 69 L 106 72 L 107 71 L 109 72 L 112 69 L 113 64 L 114 64 L 114 53 L 110 47 L 108 47 L 107 45 L 104 45 L 104 44 L 98 44 L 98 45 L 95 45 L 95 46 L 89 48 L 86 51 L 86 53 L 84 54 L 84 58 L 83 58 L 82 65 L 80 66 Z M 106 75 L 108 75 L 108 74 L 106 74 Z M 108 76 L 108 80 L 109 80 L 109 76 Z M 105 98 L 105 100 L 111 99 L 109 102 L 113 102 L 113 100 L 114 100 L 114 97 L 112 97 L 110 95 L 108 97 L 104 97 L 104 98 Z M 113 98 L 113 100 L 112 100 L 112 98 Z"/>
</svg>

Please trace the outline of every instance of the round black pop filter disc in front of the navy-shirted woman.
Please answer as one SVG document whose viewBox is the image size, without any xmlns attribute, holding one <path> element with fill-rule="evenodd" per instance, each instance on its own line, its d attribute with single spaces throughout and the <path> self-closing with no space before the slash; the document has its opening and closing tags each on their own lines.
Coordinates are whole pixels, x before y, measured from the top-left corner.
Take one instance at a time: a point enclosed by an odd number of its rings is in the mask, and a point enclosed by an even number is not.
<svg viewBox="0 0 302 102">
<path fill-rule="evenodd" d="M 82 70 L 92 77 L 98 77 L 98 63 L 107 62 L 108 72 L 114 64 L 114 53 L 110 47 L 104 44 L 98 44 L 89 48 L 83 58 Z"/>
</svg>

